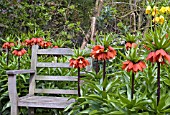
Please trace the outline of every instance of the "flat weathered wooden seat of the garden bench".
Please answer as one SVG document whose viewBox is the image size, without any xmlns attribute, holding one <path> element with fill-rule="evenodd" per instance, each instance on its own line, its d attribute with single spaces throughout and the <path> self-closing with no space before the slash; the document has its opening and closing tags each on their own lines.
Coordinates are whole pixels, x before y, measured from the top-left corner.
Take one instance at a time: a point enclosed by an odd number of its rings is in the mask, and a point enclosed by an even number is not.
<svg viewBox="0 0 170 115">
<path fill-rule="evenodd" d="M 65 108 L 69 104 L 75 102 L 75 99 L 68 99 L 68 97 L 31 96 L 22 99 L 19 98 L 18 106 Z"/>
</svg>

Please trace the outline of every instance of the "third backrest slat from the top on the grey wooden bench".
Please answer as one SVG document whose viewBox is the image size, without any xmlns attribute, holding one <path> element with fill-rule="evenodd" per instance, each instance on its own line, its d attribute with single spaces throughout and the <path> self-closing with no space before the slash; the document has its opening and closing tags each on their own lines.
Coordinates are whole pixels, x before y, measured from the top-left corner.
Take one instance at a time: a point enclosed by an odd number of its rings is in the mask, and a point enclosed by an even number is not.
<svg viewBox="0 0 170 115">
<path fill-rule="evenodd" d="M 36 76 L 35 80 L 77 81 L 77 76 Z"/>
</svg>

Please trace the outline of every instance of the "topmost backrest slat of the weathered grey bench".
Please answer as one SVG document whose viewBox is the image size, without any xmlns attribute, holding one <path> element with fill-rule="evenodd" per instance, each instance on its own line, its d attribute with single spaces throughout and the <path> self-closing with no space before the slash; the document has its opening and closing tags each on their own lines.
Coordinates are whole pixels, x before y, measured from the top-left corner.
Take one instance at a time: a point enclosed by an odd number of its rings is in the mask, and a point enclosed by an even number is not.
<svg viewBox="0 0 170 115">
<path fill-rule="evenodd" d="M 39 49 L 38 54 L 73 55 L 73 51 L 70 48 Z"/>
</svg>

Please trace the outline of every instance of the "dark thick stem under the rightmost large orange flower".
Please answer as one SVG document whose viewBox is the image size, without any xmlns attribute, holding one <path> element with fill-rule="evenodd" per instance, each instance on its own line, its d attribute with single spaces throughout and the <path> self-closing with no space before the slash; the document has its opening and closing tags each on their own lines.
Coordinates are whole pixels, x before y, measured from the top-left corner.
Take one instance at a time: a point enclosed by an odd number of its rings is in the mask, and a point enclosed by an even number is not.
<svg viewBox="0 0 170 115">
<path fill-rule="evenodd" d="M 157 62 L 158 69 L 157 69 L 157 105 L 159 104 L 160 100 L 160 63 Z"/>
</svg>

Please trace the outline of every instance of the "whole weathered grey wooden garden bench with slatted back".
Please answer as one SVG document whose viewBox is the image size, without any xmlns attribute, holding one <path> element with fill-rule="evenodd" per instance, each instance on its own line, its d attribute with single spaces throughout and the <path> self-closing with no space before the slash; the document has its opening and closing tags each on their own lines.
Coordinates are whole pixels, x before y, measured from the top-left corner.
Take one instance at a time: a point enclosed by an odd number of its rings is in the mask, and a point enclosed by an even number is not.
<svg viewBox="0 0 170 115">
<path fill-rule="evenodd" d="M 38 62 L 39 55 L 73 55 L 73 51 L 69 48 L 52 48 L 38 49 L 37 45 L 32 46 L 31 69 L 30 70 L 8 70 L 8 90 L 11 102 L 11 115 L 18 115 L 18 107 L 28 107 L 28 114 L 34 115 L 35 107 L 42 108 L 65 108 L 73 103 L 74 99 L 69 97 L 54 97 L 54 96 L 36 96 L 38 93 L 45 94 L 77 94 L 77 90 L 66 89 L 38 89 L 36 88 L 37 80 L 47 81 L 77 81 L 77 76 L 40 76 L 37 75 L 37 68 L 71 68 L 69 63 L 52 63 Z M 30 74 L 29 94 L 24 97 L 18 97 L 16 77 L 17 74 Z"/>
</svg>

